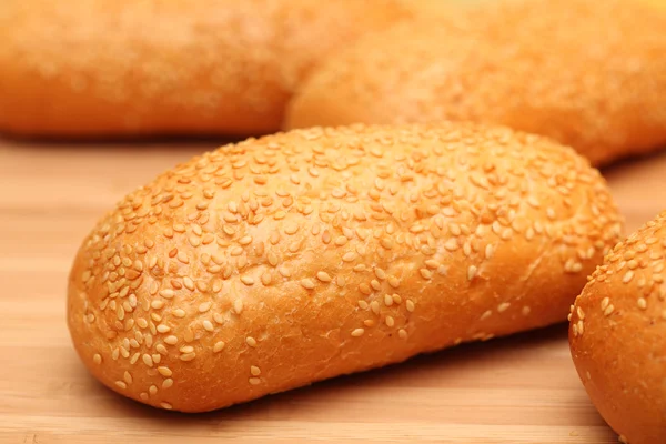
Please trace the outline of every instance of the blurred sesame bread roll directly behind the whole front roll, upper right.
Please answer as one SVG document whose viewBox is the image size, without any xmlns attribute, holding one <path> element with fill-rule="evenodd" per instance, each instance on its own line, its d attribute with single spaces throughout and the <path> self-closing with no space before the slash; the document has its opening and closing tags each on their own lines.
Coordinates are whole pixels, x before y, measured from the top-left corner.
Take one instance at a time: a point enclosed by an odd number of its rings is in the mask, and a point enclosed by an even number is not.
<svg viewBox="0 0 666 444">
<path fill-rule="evenodd" d="M 666 145 L 666 14 L 638 1 L 526 0 L 405 22 L 322 63 L 286 128 L 504 124 L 594 164 Z"/>
</svg>

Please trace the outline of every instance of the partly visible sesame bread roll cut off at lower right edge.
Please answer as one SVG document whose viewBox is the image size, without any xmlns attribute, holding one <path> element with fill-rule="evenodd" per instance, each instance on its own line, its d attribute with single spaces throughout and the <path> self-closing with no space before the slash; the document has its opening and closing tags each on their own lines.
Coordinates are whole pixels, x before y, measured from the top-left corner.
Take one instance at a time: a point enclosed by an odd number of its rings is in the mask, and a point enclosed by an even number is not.
<svg viewBox="0 0 666 444">
<path fill-rule="evenodd" d="M 619 243 L 572 305 L 578 375 L 630 444 L 666 442 L 666 212 Z"/>
</svg>

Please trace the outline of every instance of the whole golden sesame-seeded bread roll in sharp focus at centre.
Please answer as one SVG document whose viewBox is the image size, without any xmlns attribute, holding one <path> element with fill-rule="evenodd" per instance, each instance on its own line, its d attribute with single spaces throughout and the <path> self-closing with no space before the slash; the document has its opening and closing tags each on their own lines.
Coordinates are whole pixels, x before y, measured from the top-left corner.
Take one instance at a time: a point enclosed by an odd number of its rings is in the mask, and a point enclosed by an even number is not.
<svg viewBox="0 0 666 444">
<path fill-rule="evenodd" d="M 564 322 L 619 229 L 586 160 L 504 128 L 250 139 L 97 224 L 69 327 L 112 390 L 210 411 Z"/>
</svg>

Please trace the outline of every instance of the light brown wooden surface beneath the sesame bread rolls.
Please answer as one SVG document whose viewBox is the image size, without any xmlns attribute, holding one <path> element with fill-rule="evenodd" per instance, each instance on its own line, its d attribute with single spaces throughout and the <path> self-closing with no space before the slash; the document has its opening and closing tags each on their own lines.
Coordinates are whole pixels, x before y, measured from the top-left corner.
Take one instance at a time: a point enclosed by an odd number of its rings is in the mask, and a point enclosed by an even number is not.
<svg viewBox="0 0 666 444">
<path fill-rule="evenodd" d="M 617 442 L 575 374 L 565 325 L 204 415 L 102 387 L 65 327 L 73 254 L 123 194 L 216 144 L 0 141 L 0 443 Z M 605 173 L 628 230 L 666 208 L 666 154 Z"/>
</svg>

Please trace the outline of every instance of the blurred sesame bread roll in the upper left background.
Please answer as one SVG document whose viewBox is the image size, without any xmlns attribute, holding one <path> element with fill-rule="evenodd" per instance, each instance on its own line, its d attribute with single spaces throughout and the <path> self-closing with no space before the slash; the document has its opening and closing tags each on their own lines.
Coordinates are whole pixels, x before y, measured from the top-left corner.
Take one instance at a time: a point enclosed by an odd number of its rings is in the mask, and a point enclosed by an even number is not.
<svg viewBox="0 0 666 444">
<path fill-rule="evenodd" d="M 0 132 L 255 134 L 396 0 L 2 0 Z"/>
</svg>

